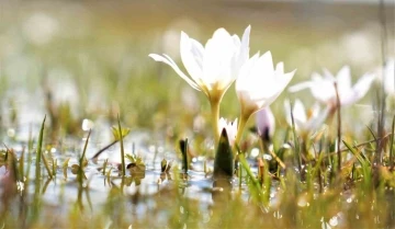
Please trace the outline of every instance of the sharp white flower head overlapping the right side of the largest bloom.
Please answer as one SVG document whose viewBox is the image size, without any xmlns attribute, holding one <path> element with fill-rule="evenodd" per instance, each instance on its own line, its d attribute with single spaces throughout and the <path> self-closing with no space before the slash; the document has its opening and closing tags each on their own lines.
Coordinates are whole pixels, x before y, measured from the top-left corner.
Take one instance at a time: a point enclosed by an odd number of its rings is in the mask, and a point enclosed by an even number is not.
<svg viewBox="0 0 395 229">
<path fill-rule="evenodd" d="M 274 69 L 270 51 L 256 54 L 241 67 L 236 80 L 236 92 L 241 114 L 249 116 L 270 105 L 285 89 L 295 70 L 284 73 L 283 62 Z"/>
</svg>

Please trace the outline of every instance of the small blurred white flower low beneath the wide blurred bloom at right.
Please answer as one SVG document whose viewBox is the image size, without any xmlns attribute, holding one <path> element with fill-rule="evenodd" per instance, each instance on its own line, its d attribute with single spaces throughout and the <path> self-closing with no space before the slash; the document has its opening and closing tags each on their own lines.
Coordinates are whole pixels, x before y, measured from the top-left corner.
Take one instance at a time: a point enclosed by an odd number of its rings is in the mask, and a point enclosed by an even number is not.
<svg viewBox="0 0 395 229">
<path fill-rule="evenodd" d="M 286 122 L 292 126 L 291 117 L 291 104 L 289 100 L 284 101 L 284 108 L 286 115 Z M 307 134 L 319 127 L 329 114 L 329 107 L 320 112 L 319 105 L 316 103 L 306 114 L 306 110 L 300 100 L 295 100 L 292 108 L 292 115 L 294 118 L 295 129 L 301 133 Z"/>
</svg>

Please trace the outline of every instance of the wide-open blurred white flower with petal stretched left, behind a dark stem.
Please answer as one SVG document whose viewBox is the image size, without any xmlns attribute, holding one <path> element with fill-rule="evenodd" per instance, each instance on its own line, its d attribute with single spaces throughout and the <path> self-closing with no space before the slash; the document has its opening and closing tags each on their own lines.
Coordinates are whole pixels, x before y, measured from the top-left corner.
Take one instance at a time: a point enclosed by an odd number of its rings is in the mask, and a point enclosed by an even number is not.
<svg viewBox="0 0 395 229">
<path fill-rule="evenodd" d="M 324 76 L 314 72 L 311 81 L 302 82 L 290 87 L 289 91 L 296 92 L 309 88 L 313 96 L 316 100 L 334 107 L 337 104 L 337 96 L 335 90 L 336 82 L 340 104 L 342 106 L 347 106 L 362 99 L 370 89 L 373 80 L 373 75 L 365 73 L 351 88 L 350 68 L 348 66 L 345 66 L 339 70 L 336 78 L 328 70 L 324 69 Z"/>
</svg>

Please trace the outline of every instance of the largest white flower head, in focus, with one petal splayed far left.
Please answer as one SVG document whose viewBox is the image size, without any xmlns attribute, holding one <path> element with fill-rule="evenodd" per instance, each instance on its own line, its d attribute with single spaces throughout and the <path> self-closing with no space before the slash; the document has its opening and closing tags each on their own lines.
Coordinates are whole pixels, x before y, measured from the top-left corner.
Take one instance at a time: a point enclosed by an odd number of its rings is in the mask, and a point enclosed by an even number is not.
<svg viewBox="0 0 395 229">
<path fill-rule="evenodd" d="M 208 100 L 221 101 L 222 96 L 238 76 L 238 71 L 249 56 L 250 26 L 242 38 L 230 35 L 225 28 L 214 32 L 205 47 L 181 32 L 180 54 L 188 77 L 166 54 L 150 54 L 156 61 L 169 65 L 192 88 L 203 91 Z"/>
</svg>

